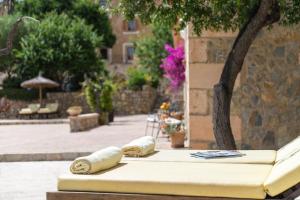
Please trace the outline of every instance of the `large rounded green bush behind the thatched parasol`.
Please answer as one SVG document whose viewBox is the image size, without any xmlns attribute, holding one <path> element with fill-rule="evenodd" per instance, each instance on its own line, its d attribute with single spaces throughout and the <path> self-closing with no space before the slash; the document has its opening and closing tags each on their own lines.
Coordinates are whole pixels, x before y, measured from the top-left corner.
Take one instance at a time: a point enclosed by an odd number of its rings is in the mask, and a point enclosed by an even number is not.
<svg viewBox="0 0 300 200">
<path fill-rule="evenodd" d="M 84 20 L 49 14 L 22 38 L 21 48 L 15 51 L 18 59 L 15 73 L 26 80 L 42 71 L 43 76 L 60 83 L 64 74 L 68 74 L 79 87 L 84 74 L 105 71 L 95 52 L 101 39 Z"/>
</svg>

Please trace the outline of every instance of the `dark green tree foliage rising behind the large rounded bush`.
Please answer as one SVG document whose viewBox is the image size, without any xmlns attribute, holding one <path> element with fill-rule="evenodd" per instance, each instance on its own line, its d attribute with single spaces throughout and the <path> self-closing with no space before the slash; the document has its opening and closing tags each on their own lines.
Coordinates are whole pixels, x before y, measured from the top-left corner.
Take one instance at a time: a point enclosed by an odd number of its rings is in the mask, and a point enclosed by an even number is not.
<svg viewBox="0 0 300 200">
<path fill-rule="evenodd" d="M 16 3 L 15 12 L 38 19 L 45 18 L 50 12 L 79 17 L 103 37 L 104 46 L 112 47 L 116 41 L 106 11 L 92 0 L 23 0 Z"/>
</svg>

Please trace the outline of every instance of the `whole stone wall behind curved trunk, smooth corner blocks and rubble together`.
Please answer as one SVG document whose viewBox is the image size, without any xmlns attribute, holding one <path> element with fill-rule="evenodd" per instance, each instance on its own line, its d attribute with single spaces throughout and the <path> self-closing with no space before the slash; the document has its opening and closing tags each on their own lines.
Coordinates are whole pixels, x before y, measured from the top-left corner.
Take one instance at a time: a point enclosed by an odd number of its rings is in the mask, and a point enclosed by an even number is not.
<svg viewBox="0 0 300 200">
<path fill-rule="evenodd" d="M 300 135 L 300 26 L 263 30 L 251 46 L 236 81 L 231 123 L 246 149 L 276 149 Z M 190 146 L 213 148 L 212 87 L 235 33 L 204 32 L 188 40 Z"/>
</svg>

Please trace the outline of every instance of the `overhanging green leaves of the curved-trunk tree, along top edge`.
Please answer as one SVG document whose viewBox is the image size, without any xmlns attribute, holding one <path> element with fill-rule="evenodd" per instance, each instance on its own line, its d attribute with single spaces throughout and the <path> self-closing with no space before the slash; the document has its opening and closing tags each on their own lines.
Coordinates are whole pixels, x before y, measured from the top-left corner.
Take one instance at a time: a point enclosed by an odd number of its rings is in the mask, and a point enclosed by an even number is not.
<svg viewBox="0 0 300 200">
<path fill-rule="evenodd" d="M 191 23 L 194 31 L 200 34 L 204 29 L 240 29 L 258 9 L 259 3 L 260 0 L 121 0 L 118 11 L 127 18 L 138 16 L 144 23 L 160 22 L 178 25 L 178 28 Z M 299 0 L 278 0 L 278 3 L 281 24 L 292 25 L 300 21 Z"/>
</svg>

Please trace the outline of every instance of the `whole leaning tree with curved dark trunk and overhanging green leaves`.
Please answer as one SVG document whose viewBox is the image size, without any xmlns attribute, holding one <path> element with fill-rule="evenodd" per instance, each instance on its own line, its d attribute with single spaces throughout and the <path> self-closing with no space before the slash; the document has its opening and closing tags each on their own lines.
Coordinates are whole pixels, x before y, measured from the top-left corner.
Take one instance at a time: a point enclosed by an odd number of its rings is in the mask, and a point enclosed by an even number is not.
<svg viewBox="0 0 300 200">
<path fill-rule="evenodd" d="M 120 0 L 118 11 L 144 23 L 159 22 L 183 28 L 188 23 L 197 34 L 205 29 L 238 31 L 214 86 L 213 128 L 220 149 L 236 149 L 230 125 L 230 102 L 235 80 L 257 34 L 272 24 L 300 21 L 300 0 Z"/>
</svg>

